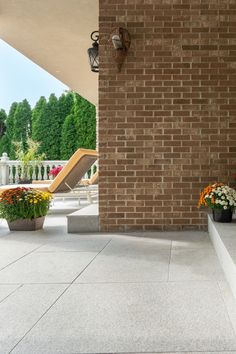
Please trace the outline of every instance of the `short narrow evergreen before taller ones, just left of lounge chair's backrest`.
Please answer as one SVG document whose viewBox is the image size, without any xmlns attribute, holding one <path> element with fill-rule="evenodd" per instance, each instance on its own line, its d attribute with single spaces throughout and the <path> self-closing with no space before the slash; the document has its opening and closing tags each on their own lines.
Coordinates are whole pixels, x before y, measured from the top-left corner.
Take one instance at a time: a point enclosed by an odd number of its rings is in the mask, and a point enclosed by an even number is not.
<svg viewBox="0 0 236 354">
<path fill-rule="evenodd" d="M 78 126 L 73 114 L 69 114 L 63 124 L 61 134 L 61 159 L 68 160 L 78 147 L 76 139 Z"/>
</svg>

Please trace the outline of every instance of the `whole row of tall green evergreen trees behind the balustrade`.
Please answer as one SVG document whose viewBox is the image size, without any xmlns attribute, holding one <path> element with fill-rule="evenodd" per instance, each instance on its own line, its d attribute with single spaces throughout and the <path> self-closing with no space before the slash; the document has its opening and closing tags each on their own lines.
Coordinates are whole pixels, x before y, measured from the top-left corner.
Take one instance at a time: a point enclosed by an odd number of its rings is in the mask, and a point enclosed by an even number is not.
<svg viewBox="0 0 236 354">
<path fill-rule="evenodd" d="M 7 116 L 1 112 L 0 153 L 7 152 L 11 160 L 16 159 L 14 142 L 27 153 L 28 138 L 40 142 L 37 153 L 48 160 L 68 159 L 79 147 L 96 147 L 95 106 L 77 93 L 58 99 L 51 94 L 48 101 L 42 96 L 32 111 L 24 100 L 14 102 Z"/>
</svg>

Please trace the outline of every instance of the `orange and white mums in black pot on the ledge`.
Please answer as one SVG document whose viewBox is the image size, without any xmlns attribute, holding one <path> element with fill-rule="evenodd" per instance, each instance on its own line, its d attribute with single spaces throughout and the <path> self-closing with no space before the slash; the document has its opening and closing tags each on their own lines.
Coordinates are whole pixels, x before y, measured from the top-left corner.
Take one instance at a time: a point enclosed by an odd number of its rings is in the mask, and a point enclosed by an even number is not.
<svg viewBox="0 0 236 354">
<path fill-rule="evenodd" d="M 213 219 L 218 222 L 231 222 L 236 207 L 236 191 L 224 183 L 214 183 L 201 192 L 198 207 L 212 209 Z"/>
</svg>

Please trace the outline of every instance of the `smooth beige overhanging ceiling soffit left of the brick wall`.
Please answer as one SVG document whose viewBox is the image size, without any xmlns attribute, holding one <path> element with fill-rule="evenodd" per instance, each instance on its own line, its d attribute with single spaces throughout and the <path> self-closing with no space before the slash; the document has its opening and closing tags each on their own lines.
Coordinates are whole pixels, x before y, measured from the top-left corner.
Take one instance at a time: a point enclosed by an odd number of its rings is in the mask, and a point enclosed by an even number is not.
<svg viewBox="0 0 236 354">
<path fill-rule="evenodd" d="M 0 0 L 0 38 L 97 104 L 87 55 L 95 30 L 98 0 Z"/>
</svg>

